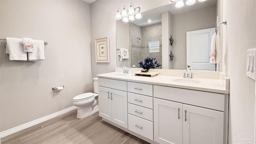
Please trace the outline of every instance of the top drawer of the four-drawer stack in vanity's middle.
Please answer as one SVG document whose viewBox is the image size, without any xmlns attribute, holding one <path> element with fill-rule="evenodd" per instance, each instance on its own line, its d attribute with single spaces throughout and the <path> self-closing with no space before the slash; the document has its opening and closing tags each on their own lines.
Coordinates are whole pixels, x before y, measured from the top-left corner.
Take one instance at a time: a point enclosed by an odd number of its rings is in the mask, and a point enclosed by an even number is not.
<svg viewBox="0 0 256 144">
<path fill-rule="evenodd" d="M 127 82 L 127 91 L 146 96 L 153 96 L 153 85 L 138 82 Z"/>
</svg>

